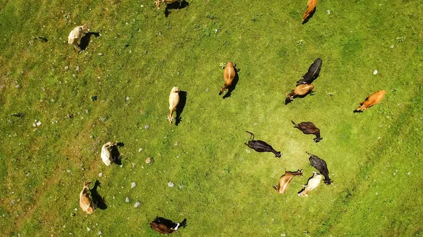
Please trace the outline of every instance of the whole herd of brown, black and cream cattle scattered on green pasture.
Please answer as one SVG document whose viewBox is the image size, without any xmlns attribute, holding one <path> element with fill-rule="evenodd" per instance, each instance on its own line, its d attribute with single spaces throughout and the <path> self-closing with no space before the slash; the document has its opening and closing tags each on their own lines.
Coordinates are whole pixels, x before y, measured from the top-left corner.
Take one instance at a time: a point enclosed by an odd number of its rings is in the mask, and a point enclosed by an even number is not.
<svg viewBox="0 0 423 237">
<path fill-rule="evenodd" d="M 167 4 L 171 4 L 175 1 L 178 1 L 179 4 L 182 3 L 183 0 L 157 0 L 154 2 L 156 4 L 157 8 L 160 8 L 161 4 L 164 4 L 167 7 Z M 304 17 L 302 18 L 303 21 L 307 20 L 309 18 L 310 14 L 312 14 L 315 10 L 317 4 L 317 0 L 309 0 L 307 4 L 307 11 L 305 12 Z M 80 25 L 75 27 L 71 33 L 68 36 L 68 44 L 71 44 L 75 50 L 78 50 L 78 52 L 81 51 L 80 46 L 78 45 L 80 43 L 80 39 L 85 36 L 90 31 L 90 29 L 87 27 L 87 25 Z M 308 94 L 312 94 L 312 90 L 314 89 L 314 86 L 312 85 L 312 82 L 314 79 L 317 79 L 319 77 L 319 72 L 321 70 L 321 63 L 322 60 L 320 58 L 317 58 L 314 60 L 314 63 L 310 65 L 309 70 L 307 73 L 302 76 L 302 79 L 298 80 L 297 85 L 295 89 L 290 91 L 286 95 L 285 105 L 288 105 L 288 103 L 291 103 L 294 98 L 296 97 L 304 97 Z M 224 79 L 224 86 L 221 88 L 221 91 L 219 92 L 219 95 L 223 94 L 224 91 L 229 89 L 233 84 L 233 79 L 235 78 L 235 65 L 233 65 L 232 62 L 226 63 L 226 68 L 223 71 L 223 79 Z M 178 103 L 180 101 L 179 98 L 180 90 L 178 87 L 173 87 L 171 89 L 171 93 L 169 94 L 169 110 L 170 113 L 168 115 L 168 122 L 172 124 L 173 122 L 173 113 L 176 112 L 176 108 L 178 106 Z M 367 97 L 362 103 L 360 103 L 360 106 L 354 110 L 354 112 L 362 112 L 362 110 L 367 110 L 368 108 L 372 107 L 376 103 L 379 103 L 382 98 L 384 98 L 384 95 L 386 94 L 386 91 L 376 91 L 373 94 L 371 94 L 369 97 Z M 314 134 L 316 138 L 314 138 L 314 142 L 319 142 L 321 139 L 323 139 L 320 136 L 320 130 L 312 123 L 312 122 L 300 122 L 299 124 L 296 124 L 294 121 L 291 120 L 291 122 L 294 124 L 294 127 L 297 129 L 300 129 L 301 132 L 304 134 Z M 272 146 L 270 146 L 265 141 L 255 140 L 254 134 L 252 132 L 248 132 L 248 134 L 251 135 L 250 140 L 245 143 L 246 146 L 249 148 L 252 148 L 256 150 L 257 152 L 271 152 L 274 153 L 276 158 L 280 158 L 282 153 L 280 151 L 276 151 Z M 116 155 L 113 154 L 114 148 L 116 148 L 116 143 L 108 142 L 102 146 L 102 153 L 101 158 L 102 161 L 106 166 L 111 165 L 114 160 L 116 160 Z M 116 149 L 117 150 L 117 149 Z M 309 162 L 312 167 L 316 168 L 319 173 L 313 172 L 312 177 L 310 177 L 307 181 L 307 184 L 303 186 L 302 190 L 298 192 L 298 196 L 308 196 L 308 193 L 312 191 L 314 188 L 317 188 L 319 184 L 321 183 L 321 179 L 324 177 L 324 183 L 325 184 L 331 184 L 331 179 L 329 178 L 329 170 L 327 167 L 327 164 L 324 160 L 317 157 L 317 155 L 310 154 L 306 152 L 309 155 Z M 302 177 L 302 169 L 298 169 L 295 172 L 290 172 L 285 170 L 285 174 L 281 176 L 279 179 L 278 185 L 274 185 L 274 188 L 278 191 L 278 193 L 283 194 L 287 191 L 291 181 L 295 176 Z M 87 214 L 91 214 L 94 212 L 95 205 L 92 201 L 92 198 L 90 197 L 90 182 L 86 182 L 82 188 L 82 191 L 80 192 L 80 207 L 83 211 L 87 212 Z M 159 233 L 172 233 L 173 231 L 178 230 L 180 226 L 185 226 L 186 219 L 183 220 L 183 222 L 175 223 L 172 222 L 169 219 L 165 219 L 163 217 L 156 217 L 151 223 L 150 226 Z"/>
</svg>

